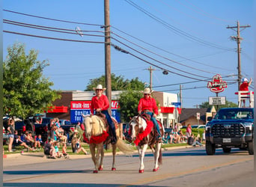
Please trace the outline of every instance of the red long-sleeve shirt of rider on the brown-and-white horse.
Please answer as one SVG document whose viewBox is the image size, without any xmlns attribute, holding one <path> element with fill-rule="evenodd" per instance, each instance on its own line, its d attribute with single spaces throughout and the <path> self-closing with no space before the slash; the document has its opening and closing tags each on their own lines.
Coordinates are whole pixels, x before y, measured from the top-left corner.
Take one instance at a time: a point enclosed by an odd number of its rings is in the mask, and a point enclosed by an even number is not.
<svg viewBox="0 0 256 187">
<path fill-rule="evenodd" d="M 152 97 L 149 97 L 148 99 L 145 99 L 142 97 L 138 102 L 138 111 L 144 111 L 149 110 L 153 111 L 156 115 L 158 114 L 158 108 L 156 106 L 156 100 Z"/>
</svg>

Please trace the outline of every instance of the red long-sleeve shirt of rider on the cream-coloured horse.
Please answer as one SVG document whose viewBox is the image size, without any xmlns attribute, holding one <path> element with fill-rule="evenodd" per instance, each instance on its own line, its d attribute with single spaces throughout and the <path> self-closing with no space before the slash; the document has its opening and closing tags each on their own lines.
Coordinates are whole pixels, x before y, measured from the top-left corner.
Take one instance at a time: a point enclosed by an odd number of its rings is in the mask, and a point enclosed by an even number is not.
<svg viewBox="0 0 256 187">
<path fill-rule="evenodd" d="M 94 114 L 94 110 L 101 108 L 102 111 L 106 111 L 109 108 L 109 99 L 106 95 L 101 95 L 98 99 L 97 96 L 93 96 L 91 99 L 91 114 Z"/>
</svg>

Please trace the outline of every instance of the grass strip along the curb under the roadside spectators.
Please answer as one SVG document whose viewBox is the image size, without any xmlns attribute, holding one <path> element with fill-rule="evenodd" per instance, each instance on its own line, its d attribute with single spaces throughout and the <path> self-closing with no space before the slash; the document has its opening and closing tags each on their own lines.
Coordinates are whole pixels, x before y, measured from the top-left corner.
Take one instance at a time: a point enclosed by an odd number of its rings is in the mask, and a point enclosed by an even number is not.
<svg viewBox="0 0 256 187">
<path fill-rule="evenodd" d="M 127 142 L 127 144 L 129 144 Z M 166 148 L 166 147 L 179 147 L 179 146 L 186 146 L 187 144 L 186 143 L 181 143 L 181 144 L 162 144 L 162 148 Z M 27 149 L 23 146 L 20 146 L 20 147 L 15 147 L 14 151 L 13 152 L 7 152 L 8 150 L 8 146 L 7 145 L 4 145 L 4 154 L 7 155 L 7 154 L 13 154 L 13 153 L 21 153 L 21 151 L 24 151 L 24 152 L 27 152 Z M 90 152 L 90 149 L 89 149 L 89 145 L 88 144 L 85 144 L 85 143 L 82 143 L 82 147 L 85 148 L 86 151 Z M 132 144 L 132 148 L 134 150 L 136 150 L 136 147 L 134 146 L 134 144 Z M 62 152 L 62 146 L 60 146 L 59 148 L 59 151 Z M 149 149 L 149 148 L 148 148 Z M 117 151 L 119 151 L 117 149 Z M 111 153 L 112 152 L 112 149 L 108 149 L 108 150 L 105 150 L 105 153 Z M 29 153 L 43 153 L 43 148 L 41 148 L 40 150 L 35 150 L 35 151 L 29 151 Z M 84 155 L 84 153 L 81 151 L 80 153 L 73 153 L 72 152 L 72 147 L 71 146 L 67 146 L 67 153 L 70 154 L 70 155 Z"/>
</svg>

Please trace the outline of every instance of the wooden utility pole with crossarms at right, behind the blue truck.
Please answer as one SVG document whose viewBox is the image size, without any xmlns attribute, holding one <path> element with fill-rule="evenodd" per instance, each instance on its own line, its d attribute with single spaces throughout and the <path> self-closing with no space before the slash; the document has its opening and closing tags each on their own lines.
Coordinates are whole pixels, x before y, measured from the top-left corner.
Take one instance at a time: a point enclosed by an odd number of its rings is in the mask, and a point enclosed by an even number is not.
<svg viewBox="0 0 256 187">
<path fill-rule="evenodd" d="M 228 26 L 227 28 L 231 28 L 234 31 L 237 31 L 237 37 L 231 36 L 232 40 L 236 40 L 237 41 L 237 70 L 238 70 L 238 75 L 237 75 L 237 81 L 238 81 L 238 91 L 240 90 L 240 84 L 241 84 L 241 58 L 240 58 L 240 53 L 241 53 L 241 49 L 240 49 L 240 40 L 243 40 L 243 37 L 240 37 L 240 28 L 247 28 L 247 27 L 251 27 L 251 25 L 244 25 L 244 26 L 240 26 L 239 21 L 237 21 L 237 26 L 233 26 L 230 27 Z M 237 30 L 236 30 L 237 29 Z"/>
</svg>

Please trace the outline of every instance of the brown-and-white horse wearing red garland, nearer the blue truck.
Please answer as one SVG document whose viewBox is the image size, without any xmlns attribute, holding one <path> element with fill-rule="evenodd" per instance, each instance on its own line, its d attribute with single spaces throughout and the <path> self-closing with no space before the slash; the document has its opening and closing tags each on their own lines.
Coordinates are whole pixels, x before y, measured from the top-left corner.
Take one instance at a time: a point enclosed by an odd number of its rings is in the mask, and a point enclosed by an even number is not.
<svg viewBox="0 0 256 187">
<path fill-rule="evenodd" d="M 160 123 L 158 121 L 158 123 Z M 163 126 L 160 123 L 160 131 L 163 135 Z M 140 167 L 138 173 L 144 173 L 144 154 L 149 146 L 154 155 L 154 167 L 153 171 L 159 170 L 159 165 L 162 164 L 162 150 L 161 150 L 161 141 L 156 141 L 156 129 L 153 127 L 153 122 L 148 118 L 138 115 L 132 117 L 132 120 L 129 122 L 129 135 L 131 141 L 134 142 L 140 159 Z M 162 136 L 161 135 L 161 136 Z"/>
</svg>

